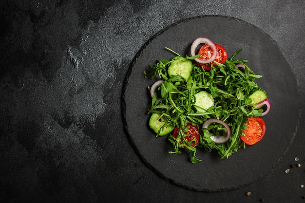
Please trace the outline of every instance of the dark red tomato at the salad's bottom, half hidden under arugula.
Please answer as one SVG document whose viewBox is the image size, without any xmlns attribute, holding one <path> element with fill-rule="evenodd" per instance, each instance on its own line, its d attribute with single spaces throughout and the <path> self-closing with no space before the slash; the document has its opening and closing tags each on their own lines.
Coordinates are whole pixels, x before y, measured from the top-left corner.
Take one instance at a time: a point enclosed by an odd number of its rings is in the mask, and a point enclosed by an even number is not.
<svg viewBox="0 0 305 203">
<path fill-rule="evenodd" d="M 180 144 L 184 143 L 186 145 L 195 147 L 198 144 L 199 138 L 200 138 L 200 133 L 199 133 L 199 130 L 198 130 L 197 126 L 193 126 L 193 125 L 191 125 L 191 123 L 188 123 L 185 126 L 185 129 L 187 129 L 187 130 L 184 131 L 184 134 L 186 134 L 186 136 L 181 138 Z M 178 129 L 178 127 L 176 127 L 173 130 L 172 136 L 174 138 L 177 138 L 178 137 L 178 132 L 179 132 L 179 129 Z M 194 140 L 194 141 L 192 141 L 192 140 Z M 186 148 L 186 147 L 183 146 L 181 148 Z"/>
</svg>

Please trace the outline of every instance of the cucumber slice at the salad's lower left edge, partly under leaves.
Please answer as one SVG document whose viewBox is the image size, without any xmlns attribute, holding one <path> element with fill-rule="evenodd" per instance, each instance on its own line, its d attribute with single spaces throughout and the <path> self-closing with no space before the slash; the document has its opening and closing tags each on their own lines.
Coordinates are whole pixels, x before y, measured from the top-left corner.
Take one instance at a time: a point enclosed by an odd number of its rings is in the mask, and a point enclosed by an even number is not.
<svg viewBox="0 0 305 203">
<path fill-rule="evenodd" d="M 172 125 L 162 128 L 167 121 L 168 120 L 164 116 L 161 117 L 161 114 L 152 113 L 151 118 L 149 119 L 149 126 L 155 133 L 158 133 L 160 130 L 159 135 L 164 136 L 172 132 L 174 129 Z"/>
</svg>

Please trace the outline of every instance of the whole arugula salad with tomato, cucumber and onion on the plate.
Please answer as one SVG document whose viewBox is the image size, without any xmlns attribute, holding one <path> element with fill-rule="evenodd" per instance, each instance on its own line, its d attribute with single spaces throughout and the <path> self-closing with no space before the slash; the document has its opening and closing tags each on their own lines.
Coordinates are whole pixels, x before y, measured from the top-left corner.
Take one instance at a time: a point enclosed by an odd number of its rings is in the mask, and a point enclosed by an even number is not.
<svg viewBox="0 0 305 203">
<path fill-rule="evenodd" d="M 143 75 L 156 80 L 148 87 L 150 128 L 156 137 L 168 136 L 170 153 L 186 150 L 197 163 L 202 161 L 198 148 L 228 158 L 263 139 L 261 117 L 270 110 L 270 101 L 254 81 L 262 76 L 251 71 L 247 60 L 235 59 L 242 49 L 228 58 L 224 47 L 206 37 L 193 41 L 191 56 L 166 49 L 175 56 L 158 59 Z"/>
</svg>

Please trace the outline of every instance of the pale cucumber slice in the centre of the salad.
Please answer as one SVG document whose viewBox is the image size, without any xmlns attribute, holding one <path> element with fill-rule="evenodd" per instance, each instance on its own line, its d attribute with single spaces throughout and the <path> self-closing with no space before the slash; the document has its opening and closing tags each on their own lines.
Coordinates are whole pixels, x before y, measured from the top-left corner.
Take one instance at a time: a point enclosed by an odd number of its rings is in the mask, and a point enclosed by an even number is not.
<svg viewBox="0 0 305 203">
<path fill-rule="evenodd" d="M 209 92 L 201 91 L 195 95 L 195 104 L 194 107 L 199 112 L 206 112 L 207 109 L 214 106 L 214 98 Z"/>
</svg>

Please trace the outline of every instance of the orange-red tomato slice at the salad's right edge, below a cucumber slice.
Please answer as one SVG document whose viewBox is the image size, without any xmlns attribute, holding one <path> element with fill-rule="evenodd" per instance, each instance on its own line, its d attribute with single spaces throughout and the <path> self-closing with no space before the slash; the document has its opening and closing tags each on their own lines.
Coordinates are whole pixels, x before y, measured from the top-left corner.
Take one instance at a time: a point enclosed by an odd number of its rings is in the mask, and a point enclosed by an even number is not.
<svg viewBox="0 0 305 203">
<path fill-rule="evenodd" d="M 260 117 L 250 117 L 245 123 L 248 125 L 247 129 L 243 129 L 244 136 L 240 136 L 240 139 L 247 145 L 254 145 L 261 141 L 266 132 L 265 121 Z"/>
</svg>

